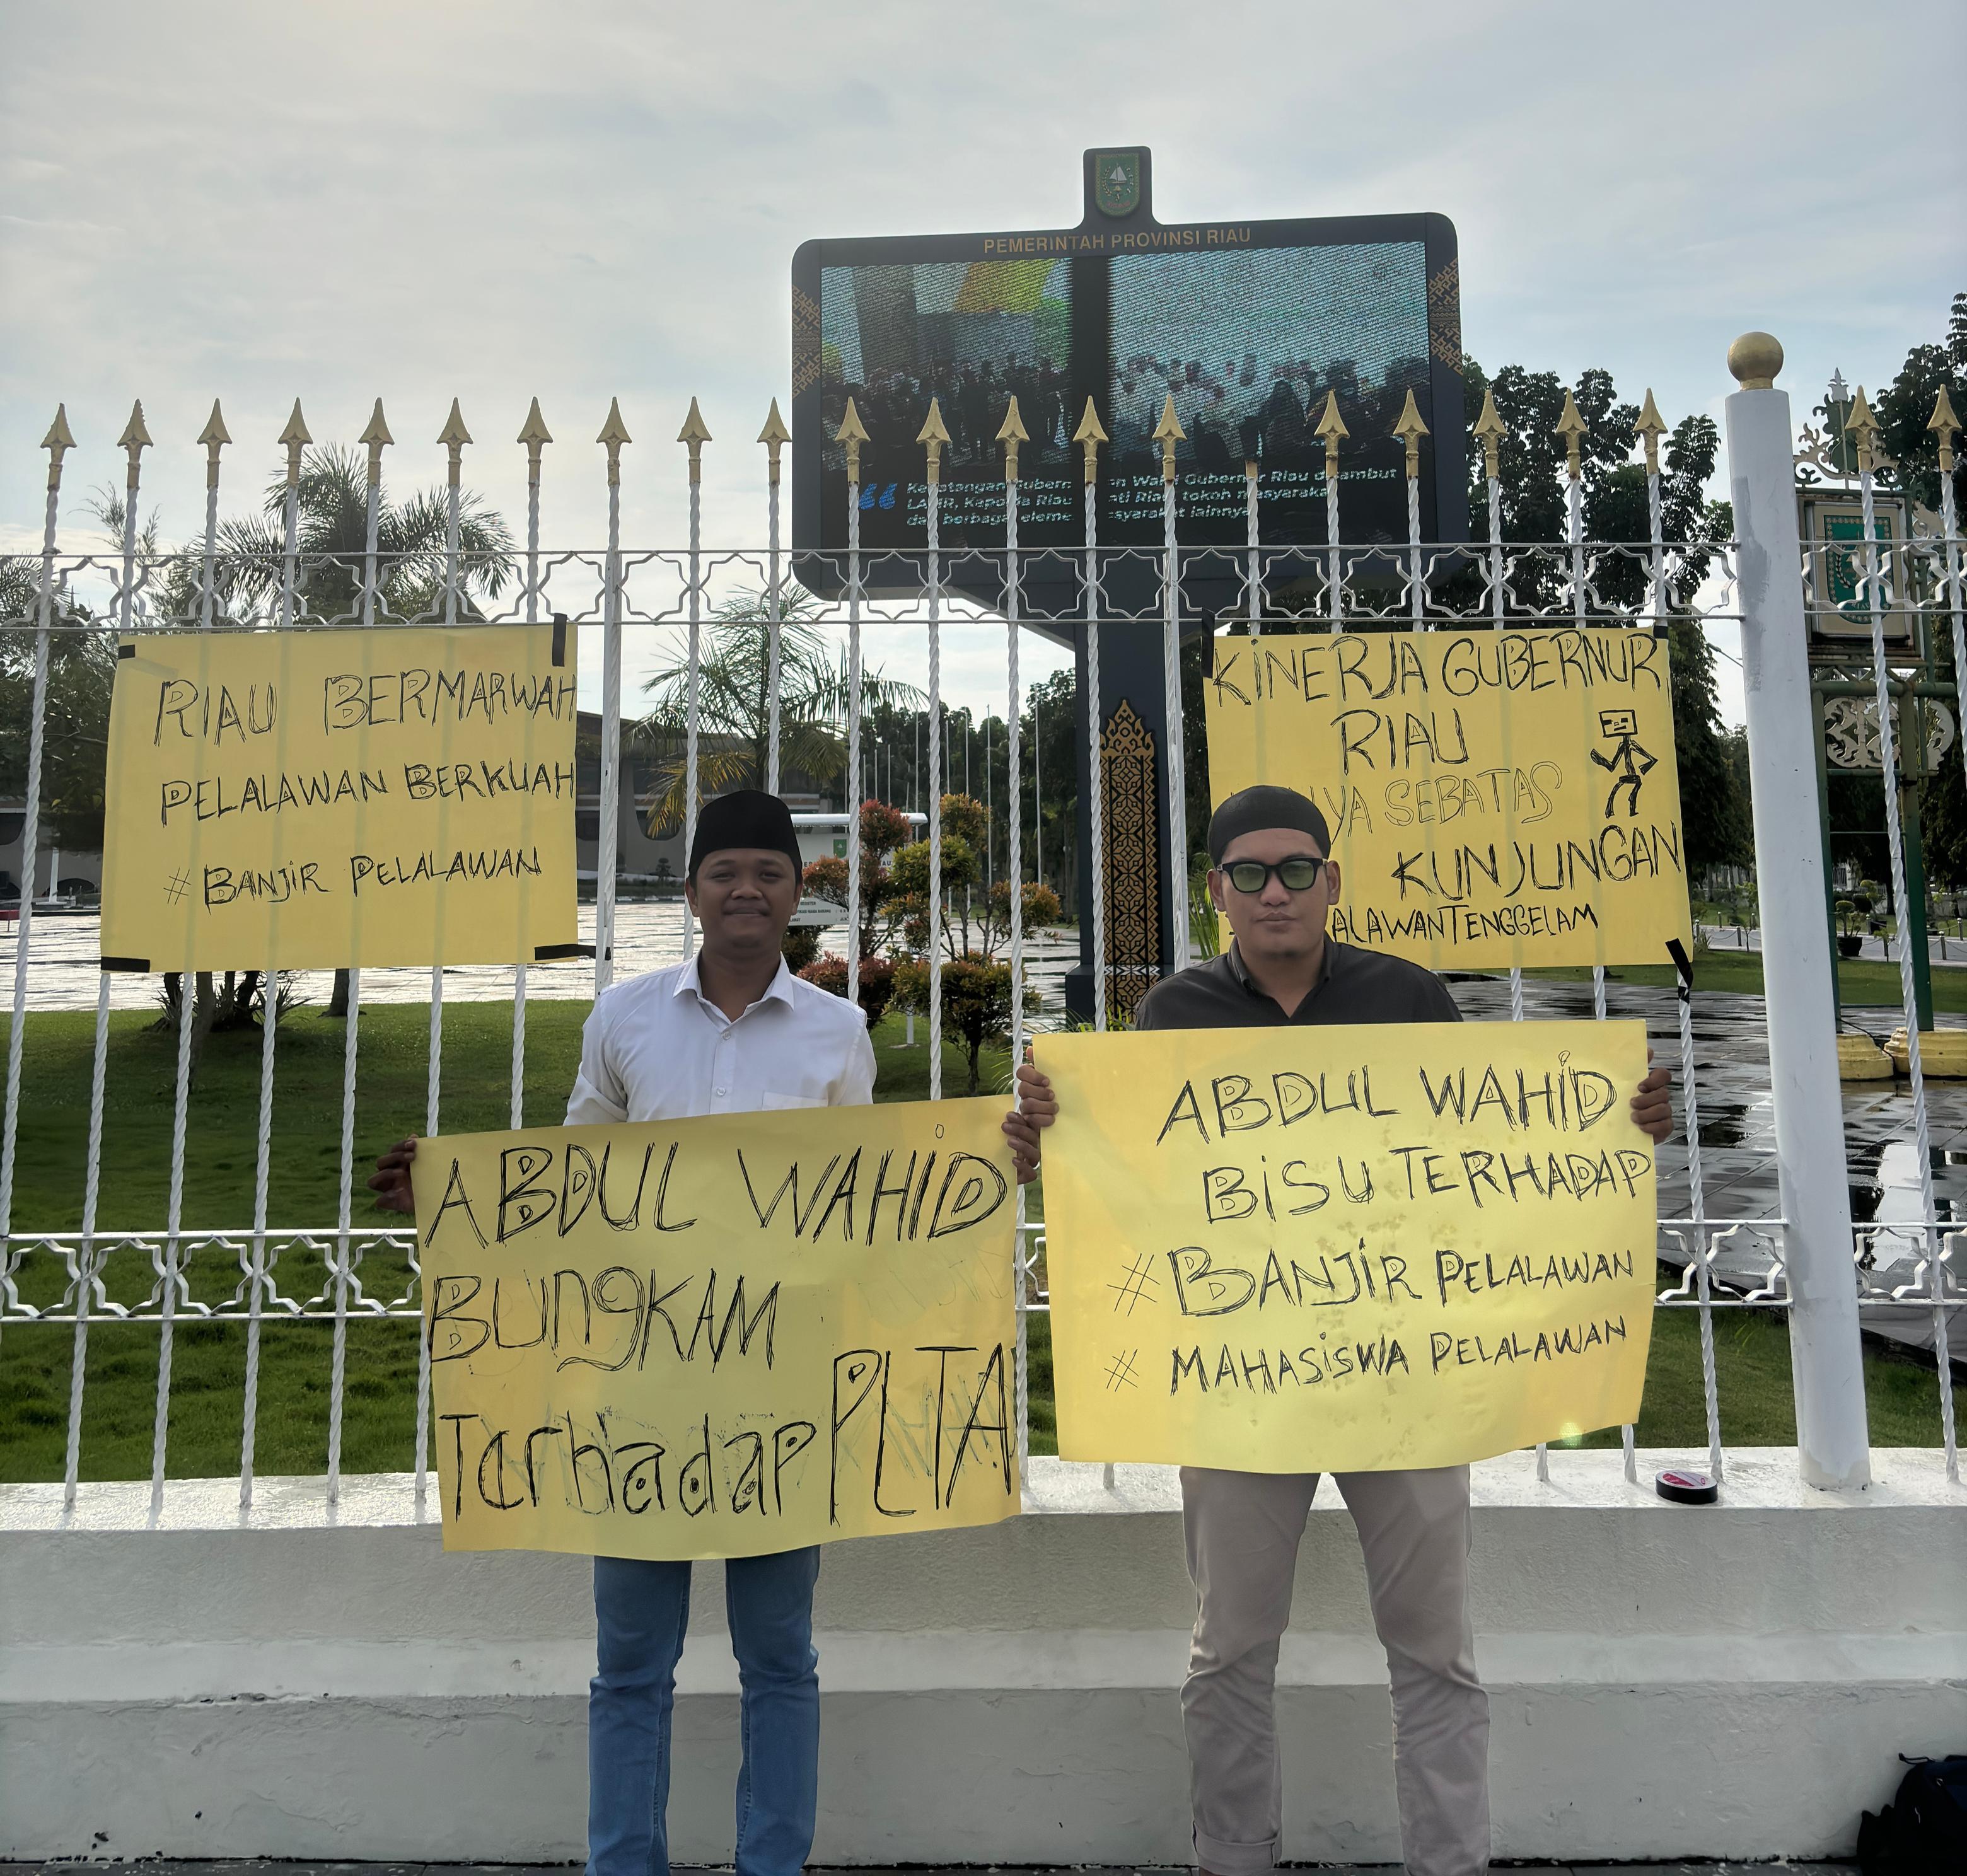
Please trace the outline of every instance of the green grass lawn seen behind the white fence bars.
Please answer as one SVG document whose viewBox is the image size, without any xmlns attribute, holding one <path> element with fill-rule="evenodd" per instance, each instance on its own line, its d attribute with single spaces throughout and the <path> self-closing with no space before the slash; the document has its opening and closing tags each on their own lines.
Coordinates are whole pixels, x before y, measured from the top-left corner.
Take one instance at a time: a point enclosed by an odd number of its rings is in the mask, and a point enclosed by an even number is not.
<svg viewBox="0 0 1967 1876">
<path fill-rule="evenodd" d="M 1747 960 L 1760 989 L 1758 960 Z M 1873 971 L 1896 991 L 1896 969 Z M 1621 977 L 1646 981 L 1644 971 Z M 1664 981 L 1664 971 L 1658 977 Z M 1713 971 L 1719 975 L 1719 969 Z M 1937 975 L 1937 973 L 1936 973 Z M 1709 981 L 1703 971 L 1703 983 Z M 1715 989 L 1725 985 L 1713 983 Z M 1735 985 L 1727 985 L 1735 987 Z M 1871 995 L 1865 987 L 1863 995 Z M 1882 1001 L 1882 999 L 1880 999 Z M 535 1003 L 527 1011 L 527 1121 L 557 1121 L 580 1050 L 584 1003 Z M 104 1229 L 155 1227 L 169 1200 L 171 1089 L 175 1038 L 149 1015 L 110 1019 L 104 1093 L 102 1203 Z M 0 1032 L 4 1032 L 0 1019 Z M 89 1133 L 89 1060 L 94 1017 L 31 1017 L 24 1054 L 16 1229 L 73 1231 L 81 1223 Z M 362 1013 L 356 1103 L 354 1223 L 384 1223 L 362 1186 L 374 1156 L 405 1133 L 421 1131 L 429 1013 L 387 1005 Z M 923 1025 L 917 1025 L 923 1032 Z M 881 1099 L 924 1099 L 926 1046 L 901 1046 L 903 1019 L 875 1032 Z M 507 1121 L 511 1013 L 504 1005 L 452 1005 L 445 1013 L 443 1121 L 447 1131 L 496 1129 Z M 1001 1089 L 1003 1050 L 985 1052 L 984 1087 Z M 183 1217 L 195 1227 L 246 1227 L 252 1221 L 254 1131 L 258 1125 L 258 1034 L 212 1036 L 191 1101 Z M 330 1225 L 338 1198 L 342 1025 L 319 1011 L 297 1011 L 281 1028 L 273 1103 L 273 1156 L 268 1217 L 275 1227 Z M 944 1052 L 944 1089 L 962 1093 L 968 1066 Z M 1043 1194 L 1033 1194 L 1043 1215 Z M 403 1260 L 372 1255 L 362 1264 L 372 1296 L 401 1296 Z M 218 1302 L 238 1284 L 236 1264 L 193 1259 L 191 1296 Z M 35 1253 L 20 1274 L 22 1298 L 49 1304 L 61 1294 L 61 1264 Z M 138 1253 L 116 1253 L 104 1272 L 112 1302 L 148 1294 L 153 1272 Z M 281 1290 L 311 1296 L 321 1264 L 281 1270 Z M 1788 1333 L 1774 1316 L 1721 1312 L 1717 1363 L 1721 1424 L 1731 1445 L 1786 1445 L 1794 1439 Z M 169 1473 L 216 1477 L 240 1465 L 246 1325 L 181 1318 L 171 1369 Z M 151 1420 L 157 1394 L 159 1331 L 153 1321 L 124 1325 L 98 1318 L 89 1327 L 81 1465 L 85 1479 L 149 1475 Z M 327 1461 L 328 1323 L 271 1321 L 262 1331 L 260 1414 L 254 1463 L 262 1473 L 315 1473 Z M 67 1437 L 75 1331 L 67 1323 L 12 1323 L 0 1337 L 0 1481 L 59 1479 Z M 1934 1445 L 1939 1439 L 1937 1382 L 1930 1369 L 1867 1353 L 1873 1441 Z M 342 1465 L 348 1471 L 397 1471 L 411 1465 L 415 1426 L 417 1331 L 411 1321 L 348 1323 Z M 1031 1318 L 1033 1451 L 1054 1449 L 1048 1319 Z M 1648 1365 L 1646 1406 L 1639 1424 L 1644 1445 L 1698 1451 L 1701 1424 L 1699 1343 L 1692 1312 L 1658 1312 Z M 1617 1432 L 1583 1445 L 1617 1443 Z"/>
</svg>

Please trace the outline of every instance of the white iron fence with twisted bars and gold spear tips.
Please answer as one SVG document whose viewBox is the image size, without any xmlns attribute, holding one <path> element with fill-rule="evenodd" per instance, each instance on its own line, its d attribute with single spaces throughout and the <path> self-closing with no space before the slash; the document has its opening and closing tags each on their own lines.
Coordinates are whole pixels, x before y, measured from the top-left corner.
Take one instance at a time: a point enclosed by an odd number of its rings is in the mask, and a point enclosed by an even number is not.
<svg viewBox="0 0 1967 1876">
<path fill-rule="evenodd" d="M 1745 395 L 1755 395 L 1745 393 Z M 1650 409 L 1650 401 L 1648 401 Z M 1786 403 L 1784 403 L 1786 423 Z M 926 429 L 924 429 L 926 437 Z M 1483 437 L 1477 427 L 1477 437 Z M 1241 543 L 1192 547 L 1176 543 L 1176 478 L 1172 460 L 1164 482 L 1164 529 L 1159 547 L 1102 547 L 1092 480 L 1092 450 L 1088 442 L 1088 482 L 1084 503 L 1084 539 L 1072 547 L 1019 545 L 1019 484 L 1015 480 L 1015 450 L 1007 462 L 1001 547 L 942 549 L 938 539 L 936 439 L 928 437 L 924 460 L 926 537 L 921 549 L 907 555 L 860 549 L 860 488 L 850 466 L 846 499 L 846 547 L 830 553 L 791 553 L 779 533 L 779 448 L 783 425 L 773 419 L 759 439 L 767 444 L 765 533 L 763 549 L 706 547 L 700 539 L 698 464 L 708 437 L 692 403 L 683 440 L 688 444 L 688 533 L 679 549 L 626 547 L 620 539 L 620 476 L 622 444 L 627 440 L 620 413 L 610 417 L 600 435 L 606 450 L 608 498 L 604 549 L 566 551 L 543 549 L 539 543 L 541 444 L 545 425 L 537 403 L 521 431 L 527 448 L 529 499 L 525 545 L 509 555 L 474 553 L 460 527 L 460 460 L 468 442 L 462 419 L 452 407 L 441 440 L 450 452 L 448 515 L 443 543 L 411 551 L 391 551 L 380 539 L 380 462 L 389 440 L 378 405 L 362 442 L 368 446 L 368 527 L 360 551 L 340 547 L 309 547 L 303 539 L 299 513 L 299 484 L 303 474 L 303 444 L 309 440 L 299 405 L 281 442 L 287 446 L 287 499 L 283 539 L 271 545 L 240 545 L 218 523 L 218 462 L 224 435 L 216 405 L 212 421 L 199 439 L 207 446 L 207 517 L 201 549 L 189 553 L 157 553 L 140 539 L 138 507 L 142 480 L 142 450 L 149 446 L 142 409 L 120 439 L 128 452 L 126 499 L 122 509 L 124 535 L 120 553 L 73 555 L 57 553 L 57 501 L 61 490 L 63 454 L 73 446 L 61 415 L 45 446 L 51 452 L 47 484 L 45 549 L 39 557 L 0 562 L 6 612 L 0 629 L 14 635 L 24 671 L 31 669 L 31 714 L 26 759 L 26 800 L 22 818 L 22 879 L 35 881 L 35 846 L 39 840 L 41 781 L 47 735 L 47 694 L 51 659 L 59 661 L 63 647 L 87 635 L 128 635 L 163 629 L 201 631 L 297 631 L 297 629 L 366 629 L 397 623 L 511 623 L 565 617 L 572 627 L 592 629 L 600 637 L 600 844 L 602 865 L 596 879 L 594 907 L 594 967 L 592 987 L 600 991 L 612 973 L 618 924 L 616 869 L 608 855 L 618 851 L 618 804 L 622 796 L 618 763 L 622 759 L 622 673 L 624 647 L 631 637 L 651 633 L 685 635 L 688 659 L 688 714 L 685 732 L 686 763 L 686 832 L 694 826 L 698 798 L 698 763 L 702 753 L 698 669 L 704 649 L 704 621 L 714 600 L 730 590 L 753 590 L 765 596 L 771 643 L 771 733 L 767 787 L 777 787 L 781 767 L 779 722 L 779 625 L 789 582 L 799 578 L 808 590 L 836 594 L 822 619 L 846 641 L 846 722 L 848 775 L 864 777 L 864 710 L 862 663 L 864 637 L 871 623 L 905 627 L 919 635 L 926 667 L 926 773 L 942 773 L 942 661 L 950 643 L 964 649 L 989 645 L 1003 653 L 1005 728 L 1009 737 L 1007 783 L 1007 877 L 1025 877 L 1021 850 L 1021 633 L 1058 627 L 1060 633 L 1078 627 L 1086 633 L 1086 682 L 1100 696 L 1098 665 L 1102 637 L 1111 633 L 1155 631 L 1161 639 L 1170 733 L 1164 739 L 1168 826 L 1168 877 L 1176 883 L 1188 877 L 1188 830 L 1184 828 L 1184 755 L 1180 739 L 1180 674 L 1178 635 L 1184 619 L 1210 612 L 1218 629 L 1263 633 L 1267 629 L 1461 629 L 1489 631 L 1526 625 L 1593 625 L 1625 631 L 1656 631 L 1674 619 L 1699 623 L 1747 621 L 1755 627 L 1766 604 L 1770 545 L 1778 558 L 1788 557 L 1796 584 L 1806 594 L 1804 606 L 1814 614 L 1837 612 L 1849 627 L 1853 604 L 1837 596 L 1833 568 L 1825 551 L 1798 549 L 1794 513 L 1788 535 L 1766 529 L 1766 517 L 1745 517 L 1743 539 L 1709 543 L 1674 543 L 1662 535 L 1658 437 L 1644 435 L 1652 535 L 1646 541 L 1607 543 L 1583 539 L 1583 492 L 1580 480 L 1576 437 L 1572 442 L 1568 507 L 1568 539 L 1560 543 L 1507 545 L 1501 535 L 1501 478 L 1493 437 L 1487 446 L 1489 541 L 1475 545 L 1434 545 L 1418 539 L 1418 499 L 1410 499 L 1406 543 L 1345 545 L 1340 513 L 1341 482 L 1328 472 L 1328 543 L 1267 545 L 1259 529 L 1259 482 L 1247 484 L 1247 535 Z M 1949 439 L 1943 439 L 1949 444 Z M 1328 444 L 1336 468 L 1336 440 Z M 852 452 L 850 452 L 852 454 Z M 1951 450 L 1949 450 L 1951 454 Z M 1418 490 L 1410 454 L 1410 494 Z M 1741 476 L 1737 464 L 1737 478 Z M 1896 761 L 1892 747 L 1894 655 L 1882 635 L 1882 619 L 1890 610 L 1912 610 L 1924 621 L 1936 643 L 1953 649 L 1953 671 L 1967 669 L 1961 606 L 1961 539 L 1953 511 L 1949 478 L 1941 529 L 1932 539 L 1892 543 L 1888 549 L 1867 545 L 1863 555 L 1863 590 L 1869 596 L 1873 623 L 1873 678 L 1880 698 L 1880 741 L 1884 767 L 1886 832 L 1892 851 L 1894 903 L 1904 907 L 1904 840 L 1896 812 Z M 1873 464 L 1867 448 L 1863 468 L 1863 499 L 1867 519 L 1873 499 Z M 1753 525 L 1751 525 L 1753 521 Z M 1867 535 L 1873 529 L 1867 527 Z M 1780 582 L 1778 582 L 1780 584 Z M 895 594 L 903 592 L 901 598 Z M 997 598 L 985 610 L 976 594 Z M 1788 621 L 1802 635 L 1804 617 Z M 1859 610 L 1863 616 L 1863 608 Z M 31 657 L 28 647 L 31 645 Z M 1800 657 L 1800 647 L 1792 647 Z M 1745 643 L 1749 659 L 1760 653 Z M 1957 702 L 1957 698 L 1955 698 Z M 1098 710 L 1088 712 L 1092 735 L 1098 735 Z M 1753 724 L 1751 724 L 1753 730 Z M 1967 741 L 1967 739 L 1963 739 Z M 1100 773 L 1098 745 L 1090 751 L 1092 773 Z M 1963 749 L 1967 753 L 1967 749 Z M 1766 816 L 1764 816 L 1766 806 Z M 1094 869 L 1092 958 L 1105 958 L 1103 887 L 1100 879 L 1100 791 L 1092 791 L 1090 861 Z M 1786 816 L 1786 820 L 1784 820 Z M 1818 840 L 1816 804 L 1758 800 L 1758 824 L 1784 824 L 1796 838 Z M 940 846 L 940 824 L 928 818 L 928 838 Z M 860 840 L 848 842 L 848 905 L 860 903 Z M 930 877 L 940 877 L 938 855 L 930 857 Z M 1180 891 L 1180 887 L 1176 887 Z M 681 952 L 686 954 L 692 934 L 681 905 L 673 914 Z M 938 918 L 940 926 L 940 918 Z M 230 1323 L 244 1337 L 244 1380 L 238 1408 L 238 1475 L 240 1498 L 252 1498 L 254 1441 L 262 1396 L 262 1351 L 268 1335 L 291 1333 L 295 1325 L 328 1325 L 327 1380 L 327 1477 L 332 1496 L 342 1471 L 342 1434 L 346 1416 L 348 1333 L 352 1325 L 372 1321 L 409 1321 L 419 1312 L 419 1270 L 415 1233 L 372 1223 L 358 1223 L 354 1192 L 358 1168 L 358 1064 L 362 1048 L 362 973 L 350 973 L 348 1019 L 342 1034 L 340 1072 L 340 1131 L 336 1146 L 338 1203 L 334 1217 L 313 1221 L 279 1221 L 269 1198 L 271 1168 L 279 1152 L 275 1135 L 275 1085 L 279 1070 L 281 1023 L 277 999 L 268 995 L 260 1026 L 260 1080 L 256 1127 L 250 1135 L 254 1162 L 252 1217 L 236 1223 L 205 1223 L 187 1217 L 187 1156 L 210 1156 L 224 1150 L 248 1150 L 246 1139 L 222 1139 L 199 1113 L 193 1085 L 195 997 L 177 997 L 177 1050 L 171 1095 L 169 1178 L 163 1215 L 126 1227 L 116 1221 L 122 1209 L 116 1192 L 104 1192 L 104 1091 L 110 1062 L 110 975 L 100 973 L 94 1005 L 94 1038 L 90 1052 L 90 1101 L 87 1119 L 87 1152 L 81 1192 L 79 1229 L 39 1229 L 33 1219 L 16 1217 L 18 1152 L 24 1089 L 24 1058 L 33 1046 L 37 1017 L 31 1011 L 30 973 L 35 944 L 45 920 L 35 920 L 33 891 L 24 891 L 18 910 L 12 1025 L 6 1058 L 6 1109 L 0 1123 L 0 1329 L 12 1335 L 71 1337 L 71 1386 L 67 1402 L 65 1481 L 73 1502 L 81 1479 L 85 1377 L 89 1373 L 90 1329 L 116 1323 L 142 1323 L 157 1337 L 157 1378 L 151 1422 L 151 1493 L 161 1502 L 169 1467 L 169 1428 L 173 1410 L 173 1345 L 187 1323 Z M 1800 942 L 1816 942 L 1804 934 Z M 1827 942 L 1827 940 L 1825 940 Z M 1174 964 L 1186 962 L 1190 932 L 1186 918 L 1174 920 Z M 848 944 L 850 979 L 858 975 L 858 946 Z M 1025 954 L 1017 920 L 1009 936 L 1009 962 L 1019 993 L 1013 995 L 1011 1048 L 1019 1050 L 1023 1032 Z M 930 971 L 940 969 L 936 932 L 928 944 Z M 563 967 L 565 969 L 565 967 Z M 1934 1192 L 1932 1129 L 1928 1091 L 1920 1070 L 1918 1023 L 1914 1017 L 1914 981 L 1908 948 L 1900 946 L 1902 1003 L 1910 1032 L 1910 1105 L 1914 1129 L 1914 1158 L 1920 1184 L 1920 1215 L 1890 1223 L 1837 1225 L 1845 1255 L 1825 1278 L 1812 1274 L 1814 1286 L 1827 1282 L 1831 1302 L 1849 1321 L 1855 1345 L 1859 1316 L 1904 1319 L 1910 1314 L 1928 1316 L 1937 1355 L 1943 1441 L 1949 1477 L 1957 1477 L 1953 1388 L 1949 1367 L 1949 1316 L 1959 1310 L 1961 1280 L 1949 1259 L 1957 1243 L 1953 1219 Z M 1107 973 L 1096 969 L 1094 1023 L 1107 1025 Z M 511 967 L 511 1072 L 509 1117 L 521 1125 L 525 1095 L 527 1050 L 527 966 Z M 850 981 L 850 995 L 854 983 Z M 1715 1318 L 1721 1312 L 1788 1310 L 1798 1300 L 1792 1284 L 1794 1229 L 1780 1215 L 1709 1215 L 1705 1202 L 1701 1146 L 1701 1074 L 1696 1046 L 1696 1015 L 1699 991 L 1680 987 L 1676 999 L 1678 1028 L 1678 1089 L 1684 1103 L 1686 1143 L 1686 1211 L 1660 1219 L 1660 1257 L 1678 1268 L 1678 1278 L 1658 1294 L 1662 1310 L 1690 1310 L 1699 1321 L 1699 1351 L 1703 1375 L 1705 1430 L 1709 1463 L 1723 1471 L 1723 1437 L 1715 1390 Z M 1607 1013 L 1605 971 L 1593 973 L 1591 1007 L 1597 1017 Z M 1509 977 L 1509 1015 L 1524 1017 L 1524 981 L 1520 971 Z M 940 993 L 928 995 L 928 1078 L 930 1091 L 940 1093 Z M 1770 1009 L 1772 1028 L 1784 1023 L 1823 1023 L 1825 1011 Z M 1039 1021 L 1050 1021 L 1041 1017 Z M 427 1099 L 423 1125 L 437 1133 L 443 1113 L 443 1044 L 445 1044 L 445 973 L 429 973 L 429 1040 L 427 1040 Z M 559 1089 L 549 1089 L 555 1099 Z M 1784 1101 L 1776 1087 L 1776 1101 Z M 374 1143 L 372 1143 L 374 1144 Z M 1021 1213 L 1023 1223 L 1023 1213 Z M 1023 1310 L 1044 1310 L 1043 1288 L 1043 1223 L 1021 1231 Z M 53 1272 L 53 1274 L 49 1274 Z M 405 1329 L 405 1335 L 409 1331 Z M 1019 1347 L 1019 1406 L 1021 1420 L 1027 1400 L 1027 1363 L 1021 1316 Z M 429 1471 L 429 1353 L 419 1357 L 415 1404 L 415 1473 L 417 1489 L 425 1491 Z M 1810 1343 L 1798 1339 L 1796 1359 L 1806 1363 Z M 1855 1353 L 1855 1347 L 1853 1347 Z M 1798 1373 L 1798 1394 L 1812 1377 Z M 1845 1402 L 1845 1412 L 1849 1402 Z M 1863 1398 L 1857 1402 L 1859 1445 L 1863 1445 Z M 1627 1467 L 1633 1469 L 1633 1430 L 1625 1430 Z M 1546 1455 L 1536 1455 L 1538 1477 L 1548 1477 Z"/>
</svg>

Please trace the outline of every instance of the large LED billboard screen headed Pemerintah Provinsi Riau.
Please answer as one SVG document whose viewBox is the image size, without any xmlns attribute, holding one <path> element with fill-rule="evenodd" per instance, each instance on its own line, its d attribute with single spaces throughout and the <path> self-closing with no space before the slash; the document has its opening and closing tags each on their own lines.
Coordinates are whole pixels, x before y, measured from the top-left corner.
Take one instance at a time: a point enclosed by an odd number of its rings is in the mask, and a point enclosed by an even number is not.
<svg viewBox="0 0 1967 1876">
<path fill-rule="evenodd" d="M 1145 159 L 1145 153 L 1143 153 Z M 1326 539 L 1326 393 L 1351 433 L 1340 456 L 1340 531 L 1406 539 L 1404 452 L 1391 435 L 1408 389 L 1430 429 L 1420 525 L 1465 539 L 1465 454 L 1454 228 L 1442 216 L 1161 226 L 1141 205 L 1037 234 L 806 242 L 793 262 L 795 543 L 846 543 L 846 456 L 834 440 L 848 397 L 862 446 L 862 545 L 924 541 L 926 478 L 915 440 L 940 401 L 942 543 L 1003 541 L 1011 395 L 1031 440 L 1019 450 L 1019 539 L 1084 539 L 1082 456 L 1070 440 L 1094 399 L 1103 545 L 1162 531 L 1161 456 L 1149 433 L 1172 395 L 1188 433 L 1176 450 L 1178 535 L 1241 543 L 1245 460 L 1261 468 L 1269 545 Z"/>
</svg>

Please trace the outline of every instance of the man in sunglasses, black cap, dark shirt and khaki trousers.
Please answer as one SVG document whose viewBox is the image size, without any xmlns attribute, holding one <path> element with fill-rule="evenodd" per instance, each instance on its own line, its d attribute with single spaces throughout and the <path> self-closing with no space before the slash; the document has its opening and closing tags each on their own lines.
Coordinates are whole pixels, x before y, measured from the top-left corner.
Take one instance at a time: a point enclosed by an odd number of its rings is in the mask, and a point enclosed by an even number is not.
<svg viewBox="0 0 1967 1876">
<path fill-rule="evenodd" d="M 1402 958 L 1326 936 L 1340 869 L 1316 804 L 1292 789 L 1243 789 L 1210 820 L 1210 899 L 1229 950 L 1157 983 L 1135 1028 L 1267 1028 L 1308 1023 L 1460 1023 L 1448 985 Z M 1052 1084 L 1019 1068 L 1003 1131 L 1019 1178 L 1039 1170 Z M 1633 1095 L 1656 1143 L 1672 1131 L 1664 1068 Z M 1489 1699 L 1475 1677 L 1467 1607 L 1469 1469 L 1340 1473 L 1365 1552 L 1373 1626 L 1393 1683 L 1401 1848 L 1412 1876 L 1489 1868 Z M 1316 1473 L 1182 1467 L 1182 1532 L 1196 1630 L 1182 1683 L 1196 1860 L 1206 1876 L 1269 1876 L 1282 1819 L 1277 1654 L 1290 1620 L 1298 1540 Z"/>
</svg>

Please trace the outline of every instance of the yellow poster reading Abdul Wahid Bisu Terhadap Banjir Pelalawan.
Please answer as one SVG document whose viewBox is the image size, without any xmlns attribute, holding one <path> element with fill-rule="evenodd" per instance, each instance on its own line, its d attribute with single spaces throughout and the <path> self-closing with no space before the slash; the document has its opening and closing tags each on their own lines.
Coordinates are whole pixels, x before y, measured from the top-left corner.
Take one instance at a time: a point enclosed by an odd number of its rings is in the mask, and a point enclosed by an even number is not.
<svg viewBox="0 0 1967 1876">
<path fill-rule="evenodd" d="M 1062 1459 L 1461 1465 L 1639 1416 L 1640 1023 L 1033 1038 Z"/>
</svg>

